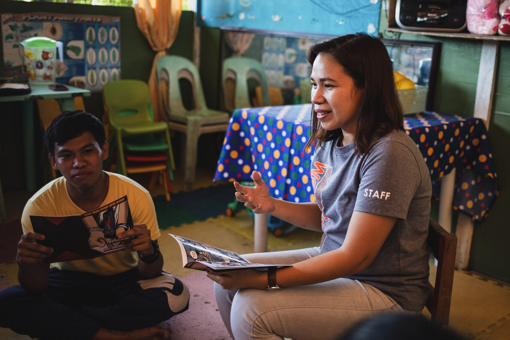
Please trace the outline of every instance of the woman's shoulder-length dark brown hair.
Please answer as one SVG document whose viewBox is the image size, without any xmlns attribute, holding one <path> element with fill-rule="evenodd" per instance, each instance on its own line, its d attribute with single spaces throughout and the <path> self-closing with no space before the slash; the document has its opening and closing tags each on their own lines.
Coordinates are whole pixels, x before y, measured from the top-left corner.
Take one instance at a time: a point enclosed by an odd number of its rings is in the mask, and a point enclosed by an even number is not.
<svg viewBox="0 0 510 340">
<path fill-rule="evenodd" d="M 355 114 L 354 149 L 364 154 L 370 145 L 392 130 L 403 129 L 403 111 L 393 78 L 393 66 L 385 45 L 380 39 L 366 33 L 345 34 L 314 43 L 307 52 L 307 60 L 314 64 L 315 58 L 324 54 L 336 60 L 364 93 Z M 311 137 L 305 145 L 316 147 L 342 137 L 342 129 L 325 130 L 321 127 L 312 106 Z"/>
</svg>

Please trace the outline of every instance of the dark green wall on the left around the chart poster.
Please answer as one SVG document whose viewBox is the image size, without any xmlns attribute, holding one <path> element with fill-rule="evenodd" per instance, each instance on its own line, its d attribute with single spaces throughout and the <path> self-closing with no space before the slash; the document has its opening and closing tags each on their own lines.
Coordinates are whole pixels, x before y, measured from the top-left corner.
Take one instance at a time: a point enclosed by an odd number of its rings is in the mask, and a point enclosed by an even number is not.
<svg viewBox="0 0 510 340">
<path fill-rule="evenodd" d="M 133 8 L 113 6 L 91 6 L 46 2 L 24 2 L 0 0 L 2 13 L 69 13 L 120 16 L 120 65 L 122 79 L 147 81 L 156 52 L 138 30 Z M 194 13 L 184 11 L 181 16 L 179 33 L 168 53 L 180 55 L 188 59 L 193 57 L 193 20 Z M 0 45 L 1 46 L 1 45 Z M 0 59 L 3 61 L 3 50 L 0 48 Z M 2 62 L 3 64 L 3 62 Z M 3 68 L 0 67 L 0 76 Z M 100 92 L 84 97 L 87 111 L 102 116 L 103 96 Z M 24 162 L 21 130 L 21 106 L 19 103 L 0 104 L 0 179 L 2 189 L 16 191 L 24 189 Z M 39 126 L 35 117 L 35 126 Z M 40 164 L 42 137 L 36 129 L 36 164 Z M 42 185 L 42 171 L 39 173 L 39 185 Z"/>
</svg>

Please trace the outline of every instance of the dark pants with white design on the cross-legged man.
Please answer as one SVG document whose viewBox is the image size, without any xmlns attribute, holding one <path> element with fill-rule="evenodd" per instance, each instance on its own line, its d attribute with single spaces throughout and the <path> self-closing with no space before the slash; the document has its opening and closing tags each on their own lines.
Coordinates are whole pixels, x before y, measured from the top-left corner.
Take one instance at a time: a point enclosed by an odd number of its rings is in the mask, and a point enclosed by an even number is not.
<svg viewBox="0 0 510 340">
<path fill-rule="evenodd" d="M 0 326 L 30 337 L 90 339 L 100 327 L 154 326 L 188 309 L 187 287 L 173 275 L 147 279 L 136 268 L 111 276 L 50 269 L 49 286 L 0 291 Z"/>
</svg>

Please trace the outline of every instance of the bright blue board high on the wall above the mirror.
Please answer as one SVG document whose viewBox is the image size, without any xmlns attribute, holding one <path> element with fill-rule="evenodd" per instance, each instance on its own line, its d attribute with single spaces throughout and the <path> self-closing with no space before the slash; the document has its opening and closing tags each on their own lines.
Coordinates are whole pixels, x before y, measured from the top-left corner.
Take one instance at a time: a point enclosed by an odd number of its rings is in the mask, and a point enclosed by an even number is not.
<svg viewBox="0 0 510 340">
<path fill-rule="evenodd" d="M 379 29 L 379 0 L 197 0 L 207 27 L 342 35 Z"/>
</svg>

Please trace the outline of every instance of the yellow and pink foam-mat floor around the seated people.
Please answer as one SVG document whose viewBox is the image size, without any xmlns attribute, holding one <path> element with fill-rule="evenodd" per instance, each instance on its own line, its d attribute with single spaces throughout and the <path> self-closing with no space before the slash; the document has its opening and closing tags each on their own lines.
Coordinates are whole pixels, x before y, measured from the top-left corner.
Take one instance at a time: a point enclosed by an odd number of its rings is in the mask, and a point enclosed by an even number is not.
<svg viewBox="0 0 510 340">
<path fill-rule="evenodd" d="M 208 170 L 197 169 L 197 182 L 195 188 L 208 187 L 212 184 L 214 173 Z M 142 184 L 144 178 L 135 178 Z M 173 192 L 182 190 L 182 173 L 175 173 Z M 156 187 L 151 194 L 163 194 L 162 187 Z M 24 202 L 29 195 L 23 192 L 7 193 L 6 205 L 8 207 L 8 218 L 19 218 Z M 160 248 L 165 254 L 165 269 L 176 276 L 183 278 L 183 281 L 190 280 L 196 284 L 202 284 L 201 272 L 182 268 L 181 254 L 176 242 L 171 238 L 165 238 L 165 233 L 179 234 L 180 236 L 202 241 L 222 249 L 228 249 L 237 253 L 248 253 L 253 251 L 253 223 L 252 218 L 244 212 L 233 218 L 220 216 L 203 222 L 185 224 L 178 227 L 171 227 L 162 232 Z M 271 233 L 268 236 L 268 248 L 270 251 L 298 249 L 315 246 L 320 243 L 320 234 L 308 230 L 289 230 L 282 237 L 276 238 Z M 0 286 L 11 286 L 16 283 L 17 266 L 15 264 L 0 264 Z M 430 280 L 435 279 L 436 269 L 431 266 Z M 187 283 L 187 282 L 186 282 Z M 189 283 L 187 283 L 189 284 Z M 194 283 L 192 283 L 194 284 Z M 174 339 L 228 339 L 228 334 L 222 330 L 218 315 L 214 315 L 214 300 L 211 300 L 211 287 L 207 280 L 203 281 L 200 293 L 195 295 L 198 311 L 205 309 L 213 310 L 203 322 L 189 324 L 189 316 L 183 313 L 180 318 L 171 319 L 169 326 L 174 329 Z M 208 291 L 209 290 L 209 291 Z M 190 287 L 191 291 L 191 287 Z M 211 304 L 211 305 L 209 305 Z M 5 308 L 5 306 L 0 306 Z M 211 309 L 212 308 L 212 309 Z M 190 306 L 191 310 L 191 306 Z M 200 314 L 201 312 L 199 312 Z M 427 316 L 426 310 L 424 315 Z M 211 333 L 211 326 L 215 332 Z M 450 327 L 458 333 L 473 340 L 508 340 L 510 339 L 510 284 L 484 277 L 475 272 L 455 271 L 453 282 L 453 294 L 450 311 Z M 21 336 L 10 330 L 0 328 L 0 339 L 30 339 Z"/>
</svg>

